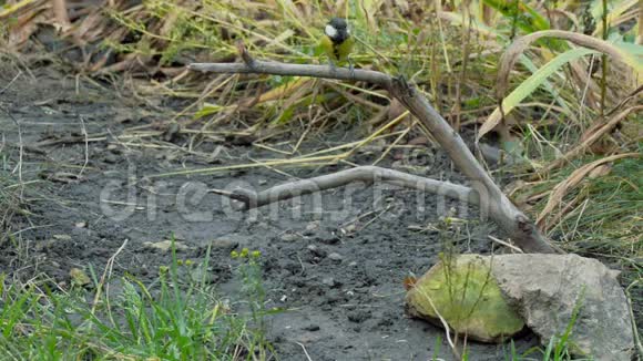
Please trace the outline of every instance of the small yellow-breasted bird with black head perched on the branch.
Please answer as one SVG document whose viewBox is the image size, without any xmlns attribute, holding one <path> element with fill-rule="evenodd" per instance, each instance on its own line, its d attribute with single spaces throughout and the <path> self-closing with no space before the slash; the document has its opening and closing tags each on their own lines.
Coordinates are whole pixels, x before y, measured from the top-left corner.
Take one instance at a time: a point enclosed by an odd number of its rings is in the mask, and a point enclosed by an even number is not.
<svg viewBox="0 0 643 361">
<path fill-rule="evenodd" d="M 353 70 L 353 63 L 348 55 L 353 51 L 355 39 L 350 35 L 350 29 L 348 29 L 346 20 L 341 18 L 330 19 L 326 28 L 324 28 L 324 34 L 319 45 L 328 55 L 330 66 L 334 66 L 335 63 L 341 65 L 348 62 L 349 68 Z"/>
</svg>

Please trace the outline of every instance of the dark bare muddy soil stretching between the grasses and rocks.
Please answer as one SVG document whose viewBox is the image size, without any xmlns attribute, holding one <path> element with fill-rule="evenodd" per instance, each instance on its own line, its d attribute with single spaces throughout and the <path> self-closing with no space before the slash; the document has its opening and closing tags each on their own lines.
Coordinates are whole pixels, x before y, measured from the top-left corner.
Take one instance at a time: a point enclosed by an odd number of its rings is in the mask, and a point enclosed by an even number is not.
<svg viewBox="0 0 643 361">
<path fill-rule="evenodd" d="M 2 106 L 20 123 L 24 143 L 41 142 L 39 148 L 23 152 L 22 177 L 38 180 L 27 193 L 33 215 L 18 225 L 20 245 L 0 245 L 2 272 L 24 278 L 45 274 L 69 283 L 71 268 L 92 265 L 102 270 L 127 240 L 116 257 L 114 274 L 130 272 L 150 281 L 160 266 L 169 265 L 171 256 L 145 243 L 174 234 L 186 246 L 178 250 L 182 259 L 198 261 L 207 246 L 213 246 L 210 277 L 234 307 L 241 295 L 231 271 L 236 261 L 229 252 L 248 247 L 262 251 L 266 307 L 286 309 L 268 318 L 268 338 L 280 360 L 305 360 L 302 345 L 313 360 L 431 358 L 436 339 L 443 339 L 443 333 L 405 314 L 402 280 L 409 272 L 423 274 L 442 249 L 437 231 L 418 230 L 438 220 L 436 196 L 356 185 L 324 192 L 319 207 L 312 206 L 316 198 L 305 196 L 298 203 L 284 202 L 254 214 L 233 212 L 225 199 L 204 190 L 229 188 L 239 182 L 263 189 L 289 176 L 305 178 L 341 167 L 286 168 L 282 173 L 256 167 L 155 177 L 278 154 L 223 140 L 200 145 L 200 152 L 213 154 L 204 162 L 180 149 L 187 141 L 182 134 L 170 137 L 163 147 L 142 147 L 116 136 L 137 126 L 165 131 L 161 122 L 178 109 L 176 100 L 160 97 L 145 104 L 125 91 L 76 82 L 52 68 L 32 72 L 33 78 L 22 74 L 0 95 Z M 16 73 L 0 73 L 0 90 Z M 0 124 L 3 152 L 16 157 L 18 128 L 4 113 L 0 113 Z M 305 146 L 308 151 L 327 148 L 357 140 L 363 132 L 358 126 L 338 124 L 330 134 L 308 137 Z M 284 140 L 296 142 L 299 136 L 287 134 Z M 151 135 L 154 137 L 163 135 Z M 370 164 L 378 156 L 371 149 L 354 162 Z M 381 165 L 395 165 L 395 157 L 394 152 Z M 428 176 L 465 182 L 438 149 L 427 149 L 415 162 L 431 164 L 426 168 Z M 422 203 L 425 210 L 420 212 Z M 499 236 L 498 230 L 476 221 L 476 209 L 467 210 L 471 221 L 457 241 L 460 251 L 489 252 L 487 235 Z M 524 350 L 535 341 L 527 334 L 517 345 Z M 469 350 L 471 360 L 502 360 L 509 354 L 508 344 L 469 342 Z M 443 341 L 438 355 L 452 359 Z"/>
</svg>

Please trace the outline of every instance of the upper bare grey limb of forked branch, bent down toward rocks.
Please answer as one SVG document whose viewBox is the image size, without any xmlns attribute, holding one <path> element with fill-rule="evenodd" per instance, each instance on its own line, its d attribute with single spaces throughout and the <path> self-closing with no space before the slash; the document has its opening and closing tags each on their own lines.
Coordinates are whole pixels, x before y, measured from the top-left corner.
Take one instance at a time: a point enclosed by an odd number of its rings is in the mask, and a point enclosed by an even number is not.
<svg viewBox="0 0 643 361">
<path fill-rule="evenodd" d="M 484 203 L 490 217 L 520 248 L 527 252 L 550 254 L 557 251 L 544 239 L 534 224 L 504 196 L 491 176 L 478 163 L 460 135 L 429 104 L 422 93 L 415 86 L 408 84 L 404 78 L 391 78 L 381 72 L 361 69 L 350 71 L 348 69 L 326 65 L 258 61 L 252 59 L 243 45 L 239 45 L 239 53 L 244 60 L 243 63 L 194 63 L 190 65 L 190 69 L 212 73 L 252 73 L 337 79 L 361 81 L 379 85 L 386 89 L 392 97 L 404 104 L 430 130 L 436 141 L 447 151 L 458 168 L 471 180 L 471 187 L 478 194 L 480 203 Z M 319 178 L 316 179 L 319 180 Z M 322 177 L 322 180 L 327 182 L 328 178 Z M 329 182 L 328 185 L 331 183 Z M 336 184 L 338 186 L 344 185 L 341 182 Z M 282 192 L 288 187 L 293 187 L 293 184 L 285 184 L 278 187 L 280 187 L 279 192 Z M 322 188 L 319 185 L 317 187 Z"/>
</svg>

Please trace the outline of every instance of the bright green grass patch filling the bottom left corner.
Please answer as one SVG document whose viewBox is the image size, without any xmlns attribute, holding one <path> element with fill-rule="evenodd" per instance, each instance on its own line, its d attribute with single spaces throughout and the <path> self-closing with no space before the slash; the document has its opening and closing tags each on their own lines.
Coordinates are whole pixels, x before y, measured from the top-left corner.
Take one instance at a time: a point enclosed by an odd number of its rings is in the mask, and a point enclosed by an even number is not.
<svg viewBox="0 0 643 361">
<path fill-rule="evenodd" d="M 208 252 L 210 255 L 210 252 Z M 269 358 L 259 309 L 234 312 L 198 265 L 173 257 L 156 281 L 119 280 L 120 295 L 95 305 L 83 289 L 51 291 L 0 277 L 0 355 L 12 360 L 241 360 Z M 184 283 L 183 267 L 201 267 Z M 255 285 L 261 280 L 247 275 Z M 113 286 L 114 287 L 114 286 Z M 100 289 L 96 287 L 96 289 Z M 252 313 L 252 314 L 251 314 Z"/>
</svg>

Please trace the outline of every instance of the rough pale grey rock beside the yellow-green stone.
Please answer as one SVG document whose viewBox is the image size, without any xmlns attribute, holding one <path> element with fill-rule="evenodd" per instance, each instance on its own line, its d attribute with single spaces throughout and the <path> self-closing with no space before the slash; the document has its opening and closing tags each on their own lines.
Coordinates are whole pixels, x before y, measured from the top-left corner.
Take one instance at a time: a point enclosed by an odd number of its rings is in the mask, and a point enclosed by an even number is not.
<svg viewBox="0 0 643 361">
<path fill-rule="evenodd" d="M 576 255 L 496 256 L 492 271 L 542 343 L 564 333 L 580 302 L 571 350 L 595 360 L 632 359 L 632 321 L 618 271 Z"/>
</svg>

